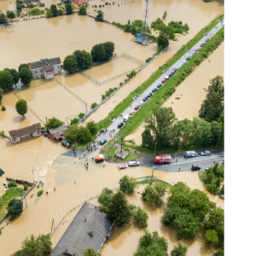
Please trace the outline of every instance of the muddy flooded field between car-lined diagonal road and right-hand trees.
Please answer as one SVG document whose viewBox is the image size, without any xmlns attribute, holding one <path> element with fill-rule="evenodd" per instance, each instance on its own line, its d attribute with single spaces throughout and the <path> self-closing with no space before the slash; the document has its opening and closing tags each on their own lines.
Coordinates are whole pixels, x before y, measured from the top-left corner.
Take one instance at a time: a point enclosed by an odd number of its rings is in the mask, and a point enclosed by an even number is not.
<svg viewBox="0 0 256 256">
<path fill-rule="evenodd" d="M 203 61 L 187 79 L 177 86 L 175 93 L 163 106 L 171 107 L 179 120 L 198 117 L 201 102 L 206 96 L 203 89 L 207 88 L 209 80 L 217 75 L 224 77 L 224 43 L 220 44 L 207 60 Z M 180 100 L 176 100 L 176 97 L 180 97 Z M 141 145 L 143 131 L 144 124 L 127 136 L 126 140 L 134 139 L 137 145 Z"/>
</svg>

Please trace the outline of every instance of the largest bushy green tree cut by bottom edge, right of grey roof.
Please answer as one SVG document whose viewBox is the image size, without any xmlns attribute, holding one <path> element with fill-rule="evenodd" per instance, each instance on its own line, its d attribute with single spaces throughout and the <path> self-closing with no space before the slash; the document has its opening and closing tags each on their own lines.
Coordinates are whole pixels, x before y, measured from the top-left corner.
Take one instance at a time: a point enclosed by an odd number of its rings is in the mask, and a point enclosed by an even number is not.
<svg viewBox="0 0 256 256">
<path fill-rule="evenodd" d="M 164 236 L 159 236 L 157 231 L 152 234 L 145 230 L 143 236 L 140 237 L 137 252 L 133 256 L 168 256 L 168 242 Z"/>
</svg>

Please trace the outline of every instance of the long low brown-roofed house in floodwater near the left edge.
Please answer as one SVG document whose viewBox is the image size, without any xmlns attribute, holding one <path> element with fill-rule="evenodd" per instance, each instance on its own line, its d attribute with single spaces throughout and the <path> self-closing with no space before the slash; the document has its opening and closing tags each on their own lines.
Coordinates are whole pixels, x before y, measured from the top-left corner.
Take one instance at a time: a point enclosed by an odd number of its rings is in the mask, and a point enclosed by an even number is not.
<svg viewBox="0 0 256 256">
<path fill-rule="evenodd" d="M 30 135 L 32 137 L 38 137 L 41 134 L 42 132 L 41 132 L 40 123 L 26 126 L 24 128 L 20 128 L 17 130 L 9 131 L 9 137 L 10 137 L 11 143 L 19 143 L 21 140 L 21 137 L 24 137 L 24 136 Z"/>
</svg>

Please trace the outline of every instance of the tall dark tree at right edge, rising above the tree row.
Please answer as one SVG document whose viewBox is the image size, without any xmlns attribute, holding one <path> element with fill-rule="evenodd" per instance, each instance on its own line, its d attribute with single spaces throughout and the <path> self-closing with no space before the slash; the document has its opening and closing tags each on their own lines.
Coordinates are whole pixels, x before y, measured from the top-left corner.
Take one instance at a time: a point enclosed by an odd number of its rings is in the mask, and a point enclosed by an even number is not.
<svg viewBox="0 0 256 256">
<path fill-rule="evenodd" d="M 208 88 L 204 89 L 207 92 L 206 99 L 201 104 L 199 116 L 206 119 L 207 122 L 217 120 L 224 111 L 224 79 L 217 76 L 210 80 Z"/>
</svg>

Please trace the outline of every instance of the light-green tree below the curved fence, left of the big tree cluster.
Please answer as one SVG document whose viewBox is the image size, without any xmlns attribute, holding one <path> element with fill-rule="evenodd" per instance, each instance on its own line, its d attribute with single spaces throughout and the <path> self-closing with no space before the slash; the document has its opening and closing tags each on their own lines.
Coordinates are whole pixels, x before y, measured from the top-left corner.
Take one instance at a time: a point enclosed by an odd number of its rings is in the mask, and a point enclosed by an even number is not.
<svg viewBox="0 0 256 256">
<path fill-rule="evenodd" d="M 142 193 L 143 200 L 148 201 L 148 203 L 153 207 L 164 204 L 161 197 L 165 194 L 166 184 L 160 182 L 154 182 L 153 185 L 148 184 Z"/>
</svg>

